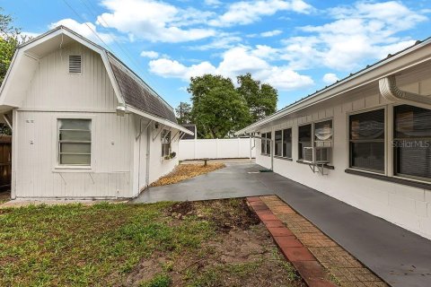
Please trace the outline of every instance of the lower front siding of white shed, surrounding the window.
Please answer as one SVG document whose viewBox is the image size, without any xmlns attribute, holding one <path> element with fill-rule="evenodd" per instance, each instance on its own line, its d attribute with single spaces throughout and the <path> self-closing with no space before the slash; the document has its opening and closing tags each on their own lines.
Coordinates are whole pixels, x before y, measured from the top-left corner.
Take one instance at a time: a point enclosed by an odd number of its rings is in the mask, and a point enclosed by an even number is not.
<svg viewBox="0 0 431 287">
<path fill-rule="evenodd" d="M 91 116 L 92 170 L 57 170 L 57 117 L 82 113 L 18 111 L 17 197 L 130 197 L 134 123 L 131 115 Z"/>
</svg>

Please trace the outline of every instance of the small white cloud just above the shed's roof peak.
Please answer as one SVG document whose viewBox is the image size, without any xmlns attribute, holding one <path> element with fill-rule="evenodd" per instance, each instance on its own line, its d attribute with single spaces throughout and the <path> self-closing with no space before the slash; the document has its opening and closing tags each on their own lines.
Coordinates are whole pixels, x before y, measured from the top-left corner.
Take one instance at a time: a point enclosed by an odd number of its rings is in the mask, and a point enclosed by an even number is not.
<svg viewBox="0 0 431 287">
<path fill-rule="evenodd" d="M 63 25 L 70 30 L 74 30 L 76 33 L 80 34 L 84 38 L 90 39 L 95 43 L 102 44 L 103 41 L 106 44 L 110 44 L 116 37 L 112 34 L 102 33 L 97 30 L 97 27 L 92 22 L 76 22 L 73 19 L 63 19 L 49 25 L 49 29 L 54 29 L 57 26 Z M 96 33 L 99 37 L 97 37 Z M 100 39 L 99 39 L 100 38 Z"/>
</svg>

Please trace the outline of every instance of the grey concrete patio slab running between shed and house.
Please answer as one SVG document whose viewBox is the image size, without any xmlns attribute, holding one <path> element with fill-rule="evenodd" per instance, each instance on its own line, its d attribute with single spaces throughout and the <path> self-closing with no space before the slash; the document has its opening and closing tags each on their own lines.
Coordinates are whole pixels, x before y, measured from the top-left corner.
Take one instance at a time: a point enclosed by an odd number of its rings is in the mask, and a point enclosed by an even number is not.
<svg viewBox="0 0 431 287">
<path fill-rule="evenodd" d="M 391 286 L 431 286 L 431 241 L 253 163 L 175 185 L 152 187 L 133 203 L 277 195 Z"/>
</svg>

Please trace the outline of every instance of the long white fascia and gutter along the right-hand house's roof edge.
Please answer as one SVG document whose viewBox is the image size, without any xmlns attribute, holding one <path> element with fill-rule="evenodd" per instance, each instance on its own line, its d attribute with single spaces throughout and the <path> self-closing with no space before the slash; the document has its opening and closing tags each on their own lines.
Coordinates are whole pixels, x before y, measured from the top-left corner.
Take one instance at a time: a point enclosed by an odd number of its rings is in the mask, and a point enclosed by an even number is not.
<svg viewBox="0 0 431 287">
<path fill-rule="evenodd" d="M 329 100 L 346 93 L 347 91 L 355 90 L 361 86 L 376 82 L 391 74 L 397 74 L 412 66 L 427 62 L 431 60 L 431 53 L 430 50 L 426 50 L 425 47 L 430 43 L 431 39 L 428 39 L 423 43 L 420 43 L 412 48 L 407 49 L 406 51 L 401 52 L 398 55 L 389 58 L 387 61 L 383 61 L 382 63 L 376 64 L 369 69 L 365 69 L 358 74 L 348 77 L 344 81 L 335 83 L 329 88 L 317 92 L 310 98 L 299 100 L 295 104 L 286 107 L 285 109 L 280 109 L 272 116 L 263 118 L 260 121 L 251 124 L 250 126 L 246 126 L 236 132 L 234 135 L 242 135 L 247 132 L 255 131 L 259 126 L 266 125 L 280 117 L 286 117 L 293 112 L 306 109 L 312 105 L 320 103 L 321 101 Z"/>
</svg>

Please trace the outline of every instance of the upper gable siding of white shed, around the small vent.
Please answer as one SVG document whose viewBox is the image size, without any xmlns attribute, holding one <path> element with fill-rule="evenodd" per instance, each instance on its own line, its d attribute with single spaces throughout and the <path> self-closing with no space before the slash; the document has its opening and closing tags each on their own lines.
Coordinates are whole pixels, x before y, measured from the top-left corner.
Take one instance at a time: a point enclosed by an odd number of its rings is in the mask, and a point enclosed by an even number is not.
<svg viewBox="0 0 431 287">
<path fill-rule="evenodd" d="M 82 73 L 69 74 L 70 55 L 82 56 Z M 73 43 L 40 59 L 22 109 L 114 110 L 117 98 L 101 56 Z"/>
</svg>

